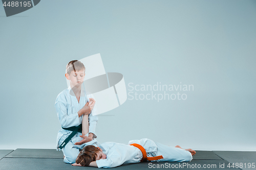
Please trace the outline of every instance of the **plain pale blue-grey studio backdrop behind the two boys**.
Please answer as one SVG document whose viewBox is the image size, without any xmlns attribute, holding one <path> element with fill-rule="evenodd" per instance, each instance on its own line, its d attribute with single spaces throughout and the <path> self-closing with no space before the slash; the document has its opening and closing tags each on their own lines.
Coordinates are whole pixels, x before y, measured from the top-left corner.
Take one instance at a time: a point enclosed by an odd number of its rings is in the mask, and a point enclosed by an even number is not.
<svg viewBox="0 0 256 170">
<path fill-rule="evenodd" d="M 54 149 L 66 64 L 100 53 L 131 93 L 99 116 L 99 142 L 256 151 L 255 1 L 49 0 L 10 17 L 0 6 L 0 30 L 0 149 Z M 160 83 L 193 89 L 143 91 Z"/>
</svg>

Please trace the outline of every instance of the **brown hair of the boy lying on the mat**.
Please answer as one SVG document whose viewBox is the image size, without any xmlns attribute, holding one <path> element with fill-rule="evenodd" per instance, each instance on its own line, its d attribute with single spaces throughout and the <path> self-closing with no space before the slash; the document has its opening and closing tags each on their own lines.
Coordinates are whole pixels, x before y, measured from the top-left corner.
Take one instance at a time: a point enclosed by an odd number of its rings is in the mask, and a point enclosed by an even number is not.
<svg viewBox="0 0 256 170">
<path fill-rule="evenodd" d="M 76 163 L 80 163 L 81 166 L 89 166 L 92 161 L 96 160 L 97 152 L 99 152 L 99 149 L 94 147 L 94 145 L 87 145 L 78 154 Z"/>
</svg>

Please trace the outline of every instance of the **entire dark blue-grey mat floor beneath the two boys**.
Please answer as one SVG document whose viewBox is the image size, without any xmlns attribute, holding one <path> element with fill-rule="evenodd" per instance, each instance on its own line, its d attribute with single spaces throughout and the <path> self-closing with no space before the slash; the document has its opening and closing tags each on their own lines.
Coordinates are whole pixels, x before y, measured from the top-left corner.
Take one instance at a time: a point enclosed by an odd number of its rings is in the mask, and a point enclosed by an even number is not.
<svg viewBox="0 0 256 170">
<path fill-rule="evenodd" d="M 231 167 L 232 163 L 243 163 L 243 168 L 240 167 L 240 169 L 256 170 L 256 168 L 248 168 L 248 163 L 256 163 L 256 152 L 196 152 L 197 154 L 193 156 L 194 159 L 191 162 L 143 162 L 121 165 L 115 169 L 238 169 Z M 13 152 L 12 150 L 0 150 L 0 154 L 6 155 L 0 160 L 0 169 L 96 169 L 94 167 L 77 167 L 64 163 L 62 152 L 50 149 L 17 149 Z M 246 163 L 246 168 L 244 163 Z"/>
</svg>

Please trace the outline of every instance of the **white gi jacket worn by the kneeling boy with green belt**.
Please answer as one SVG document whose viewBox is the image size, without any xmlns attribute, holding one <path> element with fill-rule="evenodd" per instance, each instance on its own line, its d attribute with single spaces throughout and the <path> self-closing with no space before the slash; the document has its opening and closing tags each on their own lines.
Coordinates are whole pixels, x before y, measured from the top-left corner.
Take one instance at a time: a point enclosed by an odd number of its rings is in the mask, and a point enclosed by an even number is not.
<svg viewBox="0 0 256 170">
<path fill-rule="evenodd" d="M 72 95 L 73 94 L 73 95 Z M 87 99 L 89 98 L 94 98 L 93 94 L 86 94 L 83 89 L 81 89 L 80 93 L 80 100 L 79 103 L 76 99 L 76 96 L 74 95 L 73 90 L 71 87 L 63 90 L 60 92 L 57 96 L 56 102 L 55 102 L 55 109 L 58 115 L 58 119 L 60 122 L 61 127 L 63 128 L 69 128 L 72 126 L 78 126 L 82 123 L 82 116 L 78 117 L 78 111 L 87 103 L 85 95 L 87 95 Z M 96 100 L 95 100 L 96 101 Z M 97 102 L 94 105 L 94 108 L 92 110 L 92 113 L 89 114 L 88 120 L 89 120 L 89 133 L 93 133 L 93 138 L 96 138 L 96 125 L 98 121 L 98 116 L 93 116 L 93 113 L 96 114 L 97 112 Z M 71 134 L 71 131 L 65 130 L 65 129 L 60 129 L 58 131 L 57 135 L 57 148 L 61 143 L 59 143 L 59 140 L 61 137 L 67 138 L 69 134 Z M 79 142 L 82 140 L 82 138 L 79 136 L 82 135 L 82 133 L 77 133 L 71 141 L 73 143 Z M 95 139 L 96 140 L 96 139 Z M 90 144 L 94 143 L 94 140 L 90 142 Z M 89 143 L 88 143 L 89 144 Z"/>
</svg>

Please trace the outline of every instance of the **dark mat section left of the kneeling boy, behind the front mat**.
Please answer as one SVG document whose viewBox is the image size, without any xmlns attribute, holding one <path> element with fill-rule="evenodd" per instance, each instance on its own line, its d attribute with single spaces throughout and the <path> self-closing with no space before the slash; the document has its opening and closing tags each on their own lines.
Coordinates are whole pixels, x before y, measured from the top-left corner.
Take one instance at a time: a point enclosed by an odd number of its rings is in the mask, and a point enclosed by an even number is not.
<svg viewBox="0 0 256 170">
<path fill-rule="evenodd" d="M 62 151 L 54 149 L 16 149 L 6 158 L 62 158 Z"/>
</svg>

